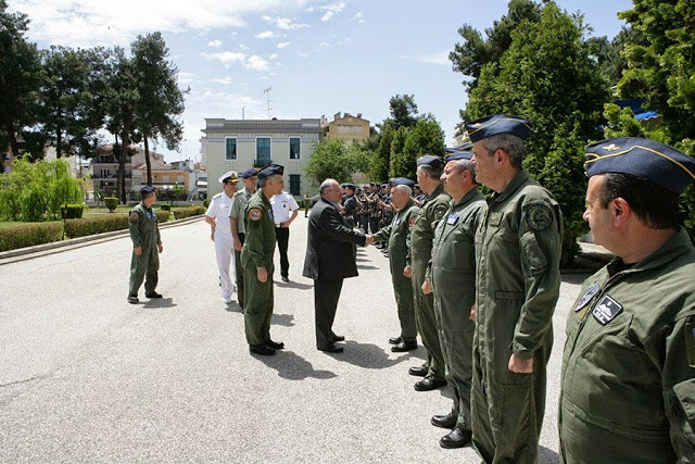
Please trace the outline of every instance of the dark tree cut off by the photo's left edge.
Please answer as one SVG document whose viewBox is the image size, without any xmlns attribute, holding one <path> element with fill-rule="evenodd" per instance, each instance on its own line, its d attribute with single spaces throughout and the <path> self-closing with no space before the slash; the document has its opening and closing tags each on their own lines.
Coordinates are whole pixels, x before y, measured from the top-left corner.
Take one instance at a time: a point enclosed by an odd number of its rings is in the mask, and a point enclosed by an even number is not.
<svg viewBox="0 0 695 464">
<path fill-rule="evenodd" d="M 17 135 L 36 124 L 40 61 L 36 45 L 24 37 L 27 15 L 7 10 L 7 1 L 0 0 L 0 153 L 9 146 L 18 156 Z"/>
</svg>

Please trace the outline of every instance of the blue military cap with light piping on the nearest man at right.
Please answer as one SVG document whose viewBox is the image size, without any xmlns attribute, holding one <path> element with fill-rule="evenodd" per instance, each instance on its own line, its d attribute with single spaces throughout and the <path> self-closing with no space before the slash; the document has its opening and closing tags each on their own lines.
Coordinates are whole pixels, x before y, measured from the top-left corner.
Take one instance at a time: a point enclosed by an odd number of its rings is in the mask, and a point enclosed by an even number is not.
<svg viewBox="0 0 695 464">
<path fill-rule="evenodd" d="M 620 173 L 659 185 L 675 193 L 695 180 L 695 160 L 668 145 L 619 137 L 586 146 L 584 170 L 589 177 Z"/>
</svg>

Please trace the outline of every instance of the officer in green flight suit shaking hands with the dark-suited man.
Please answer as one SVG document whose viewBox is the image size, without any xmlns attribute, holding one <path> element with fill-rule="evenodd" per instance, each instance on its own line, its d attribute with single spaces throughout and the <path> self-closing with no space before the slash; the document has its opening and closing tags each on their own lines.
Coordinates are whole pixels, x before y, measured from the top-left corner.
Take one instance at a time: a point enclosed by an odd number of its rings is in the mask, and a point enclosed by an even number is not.
<svg viewBox="0 0 695 464">
<path fill-rule="evenodd" d="M 401 335 L 389 339 L 389 343 L 393 344 L 391 351 L 394 352 L 412 351 L 417 348 L 413 284 L 410 277 L 404 275 L 406 267 L 410 265 L 410 230 L 419 210 L 413 201 L 414 185 L 413 180 L 403 177 L 391 181 L 391 199 L 397 213 L 393 216 L 391 224 L 374 235 L 375 242 L 389 242 L 391 281 L 401 322 Z"/>
</svg>

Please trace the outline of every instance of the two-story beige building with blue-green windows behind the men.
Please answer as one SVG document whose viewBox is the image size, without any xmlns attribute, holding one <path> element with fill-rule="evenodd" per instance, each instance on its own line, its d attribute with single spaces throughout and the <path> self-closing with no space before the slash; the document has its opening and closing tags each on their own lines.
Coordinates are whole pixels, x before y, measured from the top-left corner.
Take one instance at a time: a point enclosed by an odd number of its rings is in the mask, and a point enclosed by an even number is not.
<svg viewBox="0 0 695 464">
<path fill-rule="evenodd" d="M 205 118 L 201 138 L 207 167 L 207 198 L 222 191 L 217 181 L 227 171 L 238 173 L 270 163 L 285 166 L 285 189 L 301 197 L 311 189 L 304 168 L 324 134 L 320 120 Z"/>
</svg>

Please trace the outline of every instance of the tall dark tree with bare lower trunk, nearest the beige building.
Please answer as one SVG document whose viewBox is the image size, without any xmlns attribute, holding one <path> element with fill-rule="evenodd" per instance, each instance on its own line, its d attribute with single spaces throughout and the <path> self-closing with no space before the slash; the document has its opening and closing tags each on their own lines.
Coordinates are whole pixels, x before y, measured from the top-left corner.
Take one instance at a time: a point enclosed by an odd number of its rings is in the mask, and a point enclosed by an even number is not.
<svg viewBox="0 0 695 464">
<path fill-rule="evenodd" d="M 184 128 L 177 117 L 184 113 L 184 95 L 190 88 L 178 88 L 178 70 L 166 60 L 168 49 L 160 33 L 138 36 L 131 50 L 139 95 L 135 126 L 144 141 L 148 185 L 152 185 L 149 140 L 162 138 L 166 148 L 178 149 Z"/>
</svg>

